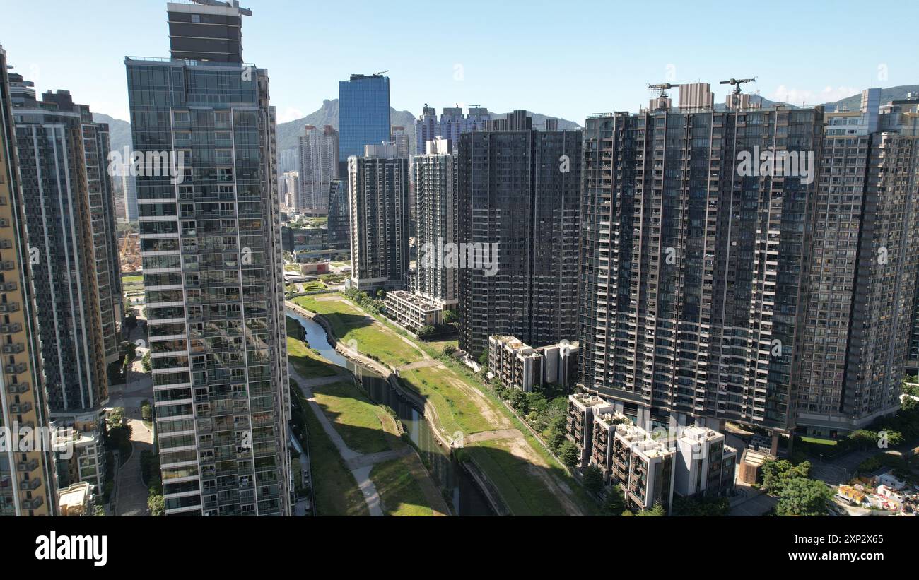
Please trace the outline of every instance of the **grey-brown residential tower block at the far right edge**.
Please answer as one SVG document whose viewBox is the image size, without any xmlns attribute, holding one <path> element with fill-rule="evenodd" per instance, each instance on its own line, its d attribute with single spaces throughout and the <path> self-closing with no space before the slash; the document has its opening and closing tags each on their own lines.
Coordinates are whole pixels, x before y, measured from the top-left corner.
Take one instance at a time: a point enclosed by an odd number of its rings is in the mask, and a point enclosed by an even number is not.
<svg viewBox="0 0 919 580">
<path fill-rule="evenodd" d="M 900 407 L 916 290 L 919 98 L 827 113 L 798 428 L 836 437 Z"/>
</svg>

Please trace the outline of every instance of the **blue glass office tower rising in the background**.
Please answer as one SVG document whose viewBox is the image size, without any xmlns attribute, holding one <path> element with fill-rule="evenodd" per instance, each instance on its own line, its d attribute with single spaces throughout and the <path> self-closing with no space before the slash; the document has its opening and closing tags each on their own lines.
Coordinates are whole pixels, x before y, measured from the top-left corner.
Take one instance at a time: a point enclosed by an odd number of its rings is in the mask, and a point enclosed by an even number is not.
<svg viewBox="0 0 919 580">
<path fill-rule="evenodd" d="M 352 74 L 338 84 L 338 159 L 364 154 L 364 145 L 390 140 L 390 79 Z M 345 173 L 340 173 L 344 175 Z"/>
</svg>

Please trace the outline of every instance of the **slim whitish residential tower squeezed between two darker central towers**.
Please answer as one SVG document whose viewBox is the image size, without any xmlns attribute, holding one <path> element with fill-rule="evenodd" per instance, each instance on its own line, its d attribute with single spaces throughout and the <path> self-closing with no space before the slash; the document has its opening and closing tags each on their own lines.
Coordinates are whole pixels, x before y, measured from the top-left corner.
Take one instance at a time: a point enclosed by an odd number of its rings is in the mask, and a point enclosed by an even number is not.
<svg viewBox="0 0 919 580">
<path fill-rule="evenodd" d="M 458 240 L 457 156 L 447 139 L 427 142 L 424 155 L 413 158 L 416 207 L 415 291 L 442 307 L 458 303 L 459 269 L 445 262 L 445 251 Z"/>
</svg>

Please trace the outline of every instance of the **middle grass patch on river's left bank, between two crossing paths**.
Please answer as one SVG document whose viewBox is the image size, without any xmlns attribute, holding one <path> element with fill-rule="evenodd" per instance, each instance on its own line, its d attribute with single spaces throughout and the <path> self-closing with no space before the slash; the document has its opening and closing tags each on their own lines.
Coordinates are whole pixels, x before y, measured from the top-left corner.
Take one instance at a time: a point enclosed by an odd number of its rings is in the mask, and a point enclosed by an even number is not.
<svg viewBox="0 0 919 580">
<path fill-rule="evenodd" d="M 352 383 L 314 386 L 312 394 L 346 445 L 354 451 L 387 452 L 405 445 L 399 439 L 393 418 Z"/>
</svg>

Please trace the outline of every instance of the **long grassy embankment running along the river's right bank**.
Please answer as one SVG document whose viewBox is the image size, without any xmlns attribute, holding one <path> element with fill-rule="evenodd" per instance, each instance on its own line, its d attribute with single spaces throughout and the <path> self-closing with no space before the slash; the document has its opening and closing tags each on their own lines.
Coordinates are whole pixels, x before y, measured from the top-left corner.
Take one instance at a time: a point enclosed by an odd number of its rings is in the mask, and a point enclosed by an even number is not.
<svg viewBox="0 0 919 580">
<path fill-rule="evenodd" d="M 331 299 L 337 296 L 338 299 Z M 382 317 L 373 325 L 363 310 L 344 301 L 340 295 L 323 300 L 301 296 L 294 301 L 303 308 L 322 314 L 340 340 L 356 340 L 357 351 L 392 366 L 403 366 L 425 359 L 422 352 L 406 344 L 406 333 Z M 411 340 L 411 339 L 409 339 Z M 460 458 L 469 456 L 498 489 L 511 512 L 519 516 L 563 515 L 562 500 L 552 486 L 570 492 L 568 499 L 585 514 L 596 513 L 596 504 L 584 489 L 565 473 L 539 441 L 511 415 L 494 393 L 482 385 L 469 369 L 449 357 L 442 357 L 435 345 L 412 340 L 443 366 L 428 366 L 400 372 L 403 385 L 424 396 L 437 411 L 441 432 L 464 435 L 496 429 L 519 429 L 523 439 L 467 442 Z M 443 342 L 446 345 L 448 342 Z M 381 492 L 382 493 L 382 492 Z"/>
</svg>

